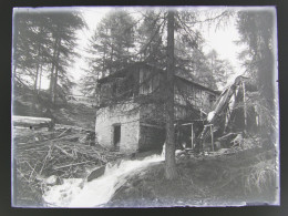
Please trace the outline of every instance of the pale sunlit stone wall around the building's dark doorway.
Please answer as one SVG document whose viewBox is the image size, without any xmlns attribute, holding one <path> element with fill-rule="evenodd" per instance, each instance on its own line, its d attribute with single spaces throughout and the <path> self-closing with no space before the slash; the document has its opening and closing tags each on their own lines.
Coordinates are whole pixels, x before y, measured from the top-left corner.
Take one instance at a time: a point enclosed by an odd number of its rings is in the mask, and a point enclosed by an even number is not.
<svg viewBox="0 0 288 216">
<path fill-rule="evenodd" d="M 95 133 L 97 142 L 107 148 L 113 148 L 114 125 L 121 125 L 120 152 L 133 153 L 138 150 L 140 112 L 133 111 L 136 104 L 103 107 L 96 113 Z"/>
</svg>

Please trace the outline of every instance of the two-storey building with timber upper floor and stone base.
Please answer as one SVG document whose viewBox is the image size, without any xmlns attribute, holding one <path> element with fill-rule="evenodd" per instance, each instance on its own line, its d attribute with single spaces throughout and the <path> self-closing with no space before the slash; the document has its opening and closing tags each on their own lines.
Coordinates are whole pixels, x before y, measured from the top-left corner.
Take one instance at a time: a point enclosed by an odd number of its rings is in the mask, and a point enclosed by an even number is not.
<svg viewBox="0 0 288 216">
<path fill-rule="evenodd" d="M 165 142 L 165 71 L 145 63 L 99 80 L 99 143 L 124 153 L 161 148 Z M 206 117 L 218 92 L 178 75 L 174 91 L 175 124 L 189 123 L 185 125 L 192 134 L 192 123 Z"/>
</svg>

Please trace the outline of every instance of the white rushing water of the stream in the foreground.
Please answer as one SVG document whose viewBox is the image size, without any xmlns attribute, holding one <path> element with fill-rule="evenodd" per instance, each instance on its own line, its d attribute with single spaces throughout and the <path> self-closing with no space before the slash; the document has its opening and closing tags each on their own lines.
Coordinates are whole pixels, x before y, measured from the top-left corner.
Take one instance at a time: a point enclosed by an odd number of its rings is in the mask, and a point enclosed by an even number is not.
<svg viewBox="0 0 288 216">
<path fill-rule="evenodd" d="M 56 207 L 97 207 L 112 198 L 126 182 L 128 174 L 161 161 L 164 161 L 163 155 L 152 155 L 142 161 L 122 161 L 120 165 L 106 166 L 104 175 L 91 182 L 82 178 L 64 179 L 62 185 L 49 187 L 43 199 Z"/>
</svg>

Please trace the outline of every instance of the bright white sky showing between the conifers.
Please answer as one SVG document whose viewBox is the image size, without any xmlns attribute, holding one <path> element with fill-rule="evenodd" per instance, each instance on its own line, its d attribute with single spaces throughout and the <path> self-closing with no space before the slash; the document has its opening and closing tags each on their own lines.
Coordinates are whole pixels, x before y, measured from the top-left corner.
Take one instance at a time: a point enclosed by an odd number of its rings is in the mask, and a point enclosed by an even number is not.
<svg viewBox="0 0 288 216">
<path fill-rule="evenodd" d="M 131 7 L 132 8 L 132 7 Z M 199 7 L 197 7 L 199 8 Z M 213 10 L 219 9 L 222 7 L 210 7 L 210 8 L 203 8 L 204 10 Z M 66 8 L 69 10 L 71 8 Z M 91 39 L 93 32 L 95 31 L 96 25 L 101 21 L 101 19 L 110 11 L 115 9 L 115 7 L 75 7 L 76 9 L 82 12 L 82 16 L 88 24 L 88 28 L 79 30 L 79 45 L 76 48 L 76 52 L 80 53 L 80 58 L 75 60 L 75 63 L 71 65 L 71 72 L 74 78 L 74 82 L 79 83 L 81 76 L 84 74 L 83 69 L 86 66 L 86 53 L 85 49 L 89 45 L 89 40 Z M 135 9 L 135 8 L 134 8 Z M 138 9 L 138 8 L 137 8 Z M 141 8 L 140 8 L 141 9 Z M 223 9 L 223 8 L 222 8 Z M 240 62 L 237 60 L 237 54 L 240 52 L 243 48 L 235 44 L 234 41 L 239 39 L 239 34 L 237 32 L 235 25 L 235 18 L 230 18 L 230 20 L 226 23 L 225 27 L 215 29 L 209 28 L 207 24 L 200 27 L 200 32 L 205 38 L 205 47 L 204 51 L 208 53 L 212 49 L 216 50 L 220 59 L 226 59 L 230 61 L 236 74 L 241 74 L 243 69 L 240 66 Z M 43 80 L 42 86 L 48 88 L 49 83 Z M 73 94 L 81 94 L 79 88 L 75 88 Z"/>
</svg>

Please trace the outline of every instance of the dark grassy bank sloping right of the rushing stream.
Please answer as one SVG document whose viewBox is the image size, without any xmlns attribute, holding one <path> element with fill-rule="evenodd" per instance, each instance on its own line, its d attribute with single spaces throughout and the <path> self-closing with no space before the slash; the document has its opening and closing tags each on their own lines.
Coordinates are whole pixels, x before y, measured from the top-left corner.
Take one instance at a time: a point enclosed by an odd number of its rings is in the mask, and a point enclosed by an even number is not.
<svg viewBox="0 0 288 216">
<path fill-rule="evenodd" d="M 164 162 L 133 173 L 103 207 L 238 206 L 276 202 L 275 151 L 182 156 L 178 178 L 166 181 Z"/>
</svg>

